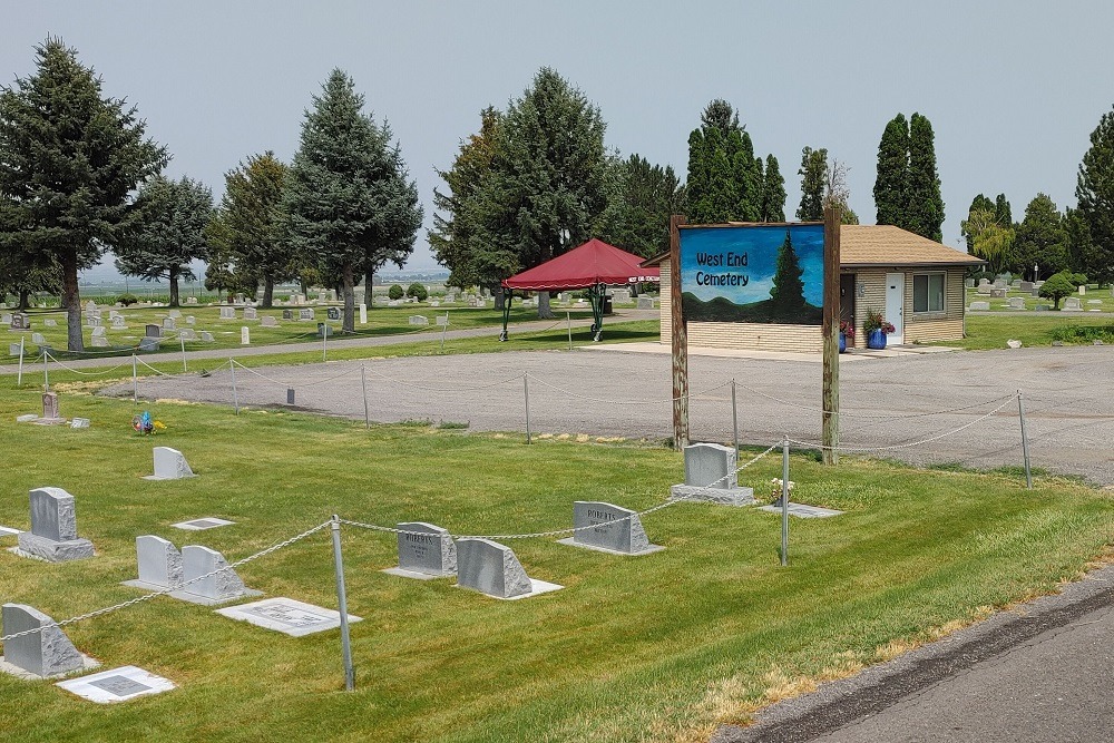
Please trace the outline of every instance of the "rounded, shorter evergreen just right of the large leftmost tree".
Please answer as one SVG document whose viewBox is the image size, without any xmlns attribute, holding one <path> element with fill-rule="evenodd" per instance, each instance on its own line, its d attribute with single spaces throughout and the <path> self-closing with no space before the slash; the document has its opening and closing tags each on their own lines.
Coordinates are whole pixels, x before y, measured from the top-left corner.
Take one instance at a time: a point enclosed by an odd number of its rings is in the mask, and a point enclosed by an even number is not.
<svg viewBox="0 0 1114 743">
<path fill-rule="evenodd" d="M 139 190 L 136 211 L 113 248 L 116 270 L 145 281 L 166 278 L 176 307 L 178 281 L 195 278 L 190 263 L 208 258 L 205 227 L 213 217 L 213 192 L 184 176 L 156 176 Z"/>
</svg>

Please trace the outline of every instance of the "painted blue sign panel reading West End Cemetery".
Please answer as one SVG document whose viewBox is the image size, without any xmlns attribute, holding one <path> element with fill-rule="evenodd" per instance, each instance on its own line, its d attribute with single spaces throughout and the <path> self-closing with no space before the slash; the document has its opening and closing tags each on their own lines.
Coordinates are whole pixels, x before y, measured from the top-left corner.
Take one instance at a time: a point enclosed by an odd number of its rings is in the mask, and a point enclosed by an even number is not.
<svg viewBox="0 0 1114 743">
<path fill-rule="evenodd" d="M 823 225 L 681 229 L 686 320 L 819 325 L 823 285 Z"/>
</svg>

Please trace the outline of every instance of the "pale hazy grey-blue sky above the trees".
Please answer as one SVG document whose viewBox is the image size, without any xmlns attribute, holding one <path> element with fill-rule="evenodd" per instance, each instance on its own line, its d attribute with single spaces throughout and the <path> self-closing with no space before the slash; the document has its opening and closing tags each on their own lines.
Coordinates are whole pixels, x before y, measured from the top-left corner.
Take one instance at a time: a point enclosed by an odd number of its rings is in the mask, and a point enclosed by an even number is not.
<svg viewBox="0 0 1114 743">
<path fill-rule="evenodd" d="M 936 130 L 945 242 L 975 194 L 1020 218 L 1037 192 L 1075 204 L 1088 135 L 1114 102 L 1108 2 L 49 2 L 0 0 L 0 80 L 33 71 L 48 35 L 78 49 L 113 96 L 218 197 L 223 174 L 273 149 L 289 160 L 330 70 L 387 117 L 430 224 L 433 169 L 451 165 L 485 106 L 505 108 L 550 66 L 598 105 L 606 143 L 684 177 L 688 133 L 713 98 L 740 111 L 785 174 L 801 148 L 850 166 L 873 222 L 878 140 L 897 113 Z M 412 268 L 434 266 L 421 232 Z"/>
</svg>

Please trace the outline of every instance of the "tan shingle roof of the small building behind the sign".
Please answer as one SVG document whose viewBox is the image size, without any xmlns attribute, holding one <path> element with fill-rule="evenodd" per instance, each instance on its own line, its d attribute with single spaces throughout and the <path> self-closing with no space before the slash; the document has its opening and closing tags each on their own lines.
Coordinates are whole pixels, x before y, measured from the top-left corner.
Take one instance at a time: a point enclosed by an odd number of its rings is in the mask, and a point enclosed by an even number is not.
<svg viewBox="0 0 1114 743">
<path fill-rule="evenodd" d="M 670 260 L 668 253 L 643 262 L 656 266 Z M 843 225 L 840 227 L 840 266 L 929 266 L 979 265 L 981 258 L 915 235 L 892 225 Z"/>
</svg>

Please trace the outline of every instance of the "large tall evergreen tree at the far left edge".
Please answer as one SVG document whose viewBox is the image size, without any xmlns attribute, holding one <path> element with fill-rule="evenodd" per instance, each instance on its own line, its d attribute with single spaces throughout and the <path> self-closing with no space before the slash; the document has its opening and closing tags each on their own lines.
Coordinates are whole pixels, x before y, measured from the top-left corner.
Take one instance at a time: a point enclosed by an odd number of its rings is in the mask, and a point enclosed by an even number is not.
<svg viewBox="0 0 1114 743">
<path fill-rule="evenodd" d="M 100 79 L 60 39 L 36 48 L 37 71 L 0 92 L 0 250 L 56 266 L 67 348 L 82 351 L 79 270 L 91 267 L 133 216 L 131 193 L 167 153 L 144 137 L 136 108 L 104 97 Z"/>
</svg>

